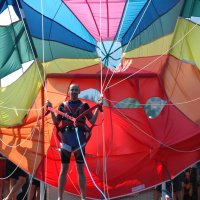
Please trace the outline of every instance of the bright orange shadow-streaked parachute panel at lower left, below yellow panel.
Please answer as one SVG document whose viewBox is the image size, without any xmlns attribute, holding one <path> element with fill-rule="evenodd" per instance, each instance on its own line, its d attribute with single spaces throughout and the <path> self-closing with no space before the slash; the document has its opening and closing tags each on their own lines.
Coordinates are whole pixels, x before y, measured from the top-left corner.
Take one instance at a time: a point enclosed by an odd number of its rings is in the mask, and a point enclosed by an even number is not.
<svg viewBox="0 0 200 200">
<path fill-rule="evenodd" d="M 49 145 L 44 138 L 47 135 L 43 135 L 42 129 L 39 126 L 34 128 L 34 125 L 31 123 L 20 128 L 0 129 L 0 137 L 7 144 L 0 141 L 0 151 L 31 174 L 35 174 Z"/>
</svg>

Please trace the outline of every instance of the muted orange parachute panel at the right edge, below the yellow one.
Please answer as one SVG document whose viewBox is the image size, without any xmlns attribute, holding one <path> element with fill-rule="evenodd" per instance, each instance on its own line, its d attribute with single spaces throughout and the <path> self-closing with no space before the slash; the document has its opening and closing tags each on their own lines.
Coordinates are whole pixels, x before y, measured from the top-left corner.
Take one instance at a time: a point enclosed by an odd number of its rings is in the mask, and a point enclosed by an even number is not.
<svg viewBox="0 0 200 200">
<path fill-rule="evenodd" d="M 170 101 L 193 122 L 200 125 L 199 69 L 169 56 L 160 78 Z"/>
</svg>

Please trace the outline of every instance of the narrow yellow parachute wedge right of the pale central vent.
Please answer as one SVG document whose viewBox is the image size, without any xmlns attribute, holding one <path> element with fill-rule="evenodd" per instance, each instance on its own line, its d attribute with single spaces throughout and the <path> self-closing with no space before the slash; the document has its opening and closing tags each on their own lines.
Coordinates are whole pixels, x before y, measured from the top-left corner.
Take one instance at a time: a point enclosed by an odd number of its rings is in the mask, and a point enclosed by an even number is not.
<svg viewBox="0 0 200 200">
<path fill-rule="evenodd" d="M 136 49 L 123 53 L 124 58 L 148 57 L 167 54 L 170 48 L 173 34 L 163 36 L 151 43 L 142 45 Z"/>
</svg>

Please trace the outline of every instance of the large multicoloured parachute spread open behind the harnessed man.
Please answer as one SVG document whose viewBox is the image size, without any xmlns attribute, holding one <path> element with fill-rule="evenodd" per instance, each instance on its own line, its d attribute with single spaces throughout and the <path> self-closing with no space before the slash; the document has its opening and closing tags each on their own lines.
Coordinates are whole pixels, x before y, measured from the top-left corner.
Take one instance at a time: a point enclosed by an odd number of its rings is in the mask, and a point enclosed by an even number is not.
<svg viewBox="0 0 200 200">
<path fill-rule="evenodd" d="M 199 10 L 197 0 L 1 0 L 0 152 L 57 187 L 60 146 L 43 108 L 78 83 L 106 101 L 86 160 L 109 198 L 199 161 Z M 155 118 L 145 109 L 152 97 L 165 102 Z M 74 166 L 65 189 L 79 194 Z M 100 199 L 86 173 L 87 196 Z"/>
</svg>

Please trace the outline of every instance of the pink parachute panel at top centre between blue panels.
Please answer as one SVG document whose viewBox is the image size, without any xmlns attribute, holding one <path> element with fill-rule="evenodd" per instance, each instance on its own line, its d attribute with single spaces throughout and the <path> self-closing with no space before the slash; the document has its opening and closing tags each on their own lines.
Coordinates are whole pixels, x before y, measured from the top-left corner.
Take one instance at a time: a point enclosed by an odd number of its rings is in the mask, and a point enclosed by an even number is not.
<svg viewBox="0 0 200 200">
<path fill-rule="evenodd" d="M 100 34 L 102 40 L 114 40 L 123 14 L 125 1 L 110 0 L 108 3 L 105 0 L 63 0 L 63 2 L 96 41 L 100 41 Z"/>
</svg>

